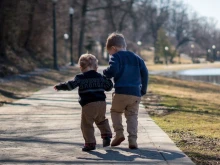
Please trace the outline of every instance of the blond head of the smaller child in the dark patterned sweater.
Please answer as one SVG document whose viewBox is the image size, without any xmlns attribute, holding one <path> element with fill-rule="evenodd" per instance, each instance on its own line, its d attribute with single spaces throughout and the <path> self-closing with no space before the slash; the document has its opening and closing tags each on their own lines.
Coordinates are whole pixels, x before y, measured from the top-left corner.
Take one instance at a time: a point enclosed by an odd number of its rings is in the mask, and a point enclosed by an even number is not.
<svg viewBox="0 0 220 165">
<path fill-rule="evenodd" d="M 92 54 L 81 55 L 78 64 L 82 72 L 86 72 L 89 70 L 97 70 L 98 68 L 98 60 Z"/>
</svg>

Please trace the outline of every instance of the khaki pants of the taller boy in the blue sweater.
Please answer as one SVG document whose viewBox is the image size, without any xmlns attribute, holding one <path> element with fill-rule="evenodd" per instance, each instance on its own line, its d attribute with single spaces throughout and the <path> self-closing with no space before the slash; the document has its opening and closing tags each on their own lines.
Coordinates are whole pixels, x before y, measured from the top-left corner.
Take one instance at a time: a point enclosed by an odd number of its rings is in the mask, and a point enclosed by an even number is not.
<svg viewBox="0 0 220 165">
<path fill-rule="evenodd" d="M 128 140 L 137 139 L 138 109 L 141 97 L 123 94 L 113 94 L 111 118 L 116 136 L 123 136 L 122 113 L 127 122 Z"/>
</svg>

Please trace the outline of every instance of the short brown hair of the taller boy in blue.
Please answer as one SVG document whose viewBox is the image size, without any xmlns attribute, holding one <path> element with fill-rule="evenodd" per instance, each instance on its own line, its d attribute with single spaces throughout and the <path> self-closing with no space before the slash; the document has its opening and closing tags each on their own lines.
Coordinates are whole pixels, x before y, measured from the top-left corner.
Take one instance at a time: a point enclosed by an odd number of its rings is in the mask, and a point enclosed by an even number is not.
<svg viewBox="0 0 220 165">
<path fill-rule="evenodd" d="M 112 46 L 126 48 L 124 35 L 117 32 L 110 34 L 106 41 L 106 49 L 109 50 Z"/>
</svg>

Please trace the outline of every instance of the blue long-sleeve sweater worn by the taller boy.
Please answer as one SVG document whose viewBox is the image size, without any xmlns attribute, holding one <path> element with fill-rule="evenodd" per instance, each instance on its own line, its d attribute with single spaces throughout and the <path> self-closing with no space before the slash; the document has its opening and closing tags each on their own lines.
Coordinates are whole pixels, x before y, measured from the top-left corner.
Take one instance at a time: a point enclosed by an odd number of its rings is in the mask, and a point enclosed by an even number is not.
<svg viewBox="0 0 220 165">
<path fill-rule="evenodd" d="M 130 51 L 119 51 L 109 60 L 109 67 L 103 71 L 107 78 L 114 78 L 117 94 L 143 96 L 148 85 L 148 70 L 138 55 Z"/>
</svg>

